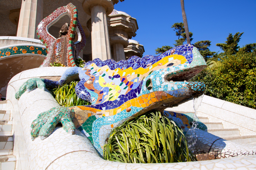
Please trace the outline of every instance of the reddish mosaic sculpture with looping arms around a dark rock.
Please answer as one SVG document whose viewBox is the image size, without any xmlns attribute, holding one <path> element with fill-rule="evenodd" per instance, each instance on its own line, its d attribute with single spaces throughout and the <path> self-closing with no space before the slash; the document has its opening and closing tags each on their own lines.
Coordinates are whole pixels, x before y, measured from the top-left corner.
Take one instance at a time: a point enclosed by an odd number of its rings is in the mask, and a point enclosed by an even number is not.
<svg viewBox="0 0 256 170">
<path fill-rule="evenodd" d="M 49 34 L 48 29 L 64 15 L 71 16 L 68 33 L 66 36 L 56 39 Z M 74 43 L 75 32 L 78 34 L 78 41 Z M 50 66 L 50 63 L 55 61 L 69 67 L 76 66 L 74 59 L 84 49 L 86 38 L 82 26 L 78 21 L 77 9 L 72 3 L 69 3 L 67 6 L 59 7 L 44 18 L 39 23 L 36 33 L 48 51 L 41 66 Z M 59 55 L 60 50 L 63 53 L 61 56 Z"/>
</svg>

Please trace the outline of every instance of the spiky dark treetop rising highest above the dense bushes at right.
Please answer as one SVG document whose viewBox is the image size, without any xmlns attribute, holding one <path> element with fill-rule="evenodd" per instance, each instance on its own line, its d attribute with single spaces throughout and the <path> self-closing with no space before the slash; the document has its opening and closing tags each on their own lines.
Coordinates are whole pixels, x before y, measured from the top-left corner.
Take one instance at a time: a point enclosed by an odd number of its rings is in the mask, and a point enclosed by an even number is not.
<svg viewBox="0 0 256 170">
<path fill-rule="evenodd" d="M 225 43 L 217 43 L 216 46 L 219 46 L 224 52 L 235 54 L 238 52 L 238 42 L 243 34 L 239 32 L 235 35 L 229 34 Z"/>
</svg>

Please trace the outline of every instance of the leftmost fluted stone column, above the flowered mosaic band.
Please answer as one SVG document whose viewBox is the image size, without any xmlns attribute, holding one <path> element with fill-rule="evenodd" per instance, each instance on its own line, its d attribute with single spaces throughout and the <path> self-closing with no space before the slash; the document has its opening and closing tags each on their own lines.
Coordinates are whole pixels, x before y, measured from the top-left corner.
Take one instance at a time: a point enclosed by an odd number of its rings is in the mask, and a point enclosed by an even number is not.
<svg viewBox="0 0 256 170">
<path fill-rule="evenodd" d="M 43 19 L 43 0 L 22 1 L 17 37 L 37 38 L 36 28 Z"/>
</svg>

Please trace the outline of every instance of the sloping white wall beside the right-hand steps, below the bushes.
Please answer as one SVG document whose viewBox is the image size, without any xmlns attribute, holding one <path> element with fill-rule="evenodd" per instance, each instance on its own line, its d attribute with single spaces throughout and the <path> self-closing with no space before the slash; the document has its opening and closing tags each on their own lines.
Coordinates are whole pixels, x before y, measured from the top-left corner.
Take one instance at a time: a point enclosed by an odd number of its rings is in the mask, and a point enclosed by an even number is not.
<svg viewBox="0 0 256 170">
<path fill-rule="evenodd" d="M 167 110 L 193 113 L 193 101 L 190 100 Z M 255 109 L 204 95 L 196 115 L 198 117 L 208 117 L 210 122 L 222 122 L 223 128 L 239 128 L 241 135 L 256 134 Z"/>
</svg>

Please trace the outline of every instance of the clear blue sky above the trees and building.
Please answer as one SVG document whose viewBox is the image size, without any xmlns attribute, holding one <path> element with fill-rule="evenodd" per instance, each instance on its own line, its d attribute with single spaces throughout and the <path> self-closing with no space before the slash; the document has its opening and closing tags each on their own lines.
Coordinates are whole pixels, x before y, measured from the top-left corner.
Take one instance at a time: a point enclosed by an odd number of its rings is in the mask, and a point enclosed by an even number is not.
<svg viewBox="0 0 256 170">
<path fill-rule="evenodd" d="M 229 33 L 244 32 L 239 42 L 256 43 L 256 0 L 184 0 L 189 31 L 193 41 L 209 40 L 211 51 L 221 51 L 216 43 L 226 41 Z M 180 0 L 125 0 L 114 6 L 136 18 L 139 29 L 133 40 L 144 45 L 144 55 L 155 49 L 173 46 L 178 37 L 171 28 L 183 22 Z"/>
</svg>

